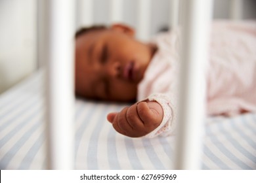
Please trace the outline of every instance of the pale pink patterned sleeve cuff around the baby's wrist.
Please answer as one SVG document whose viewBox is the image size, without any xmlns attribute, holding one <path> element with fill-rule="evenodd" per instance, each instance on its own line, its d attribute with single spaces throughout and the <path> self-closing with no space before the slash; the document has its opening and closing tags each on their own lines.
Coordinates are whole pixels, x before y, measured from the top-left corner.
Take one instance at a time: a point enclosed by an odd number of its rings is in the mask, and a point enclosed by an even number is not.
<svg viewBox="0 0 256 183">
<path fill-rule="evenodd" d="M 173 134 L 176 127 L 177 110 L 173 103 L 171 103 L 170 97 L 166 94 L 157 93 L 150 95 L 148 100 L 160 103 L 163 108 L 163 120 L 161 121 L 161 124 L 154 129 L 154 131 L 148 133 L 144 137 L 152 138 L 158 135 L 167 136 Z"/>
</svg>

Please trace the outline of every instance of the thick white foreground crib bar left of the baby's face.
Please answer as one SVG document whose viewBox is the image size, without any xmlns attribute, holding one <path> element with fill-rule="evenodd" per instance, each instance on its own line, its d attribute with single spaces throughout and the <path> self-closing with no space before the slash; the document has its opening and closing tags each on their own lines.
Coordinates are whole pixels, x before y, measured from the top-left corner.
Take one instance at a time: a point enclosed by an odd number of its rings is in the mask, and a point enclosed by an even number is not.
<svg viewBox="0 0 256 183">
<path fill-rule="evenodd" d="M 47 2 L 48 169 L 74 169 L 74 2 Z"/>
</svg>

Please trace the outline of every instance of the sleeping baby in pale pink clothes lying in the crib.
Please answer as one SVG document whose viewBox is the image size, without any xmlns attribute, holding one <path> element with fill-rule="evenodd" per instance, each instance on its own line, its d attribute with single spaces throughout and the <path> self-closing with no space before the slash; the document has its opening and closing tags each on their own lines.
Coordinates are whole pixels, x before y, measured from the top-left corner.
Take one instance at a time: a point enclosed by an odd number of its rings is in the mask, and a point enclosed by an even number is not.
<svg viewBox="0 0 256 183">
<path fill-rule="evenodd" d="M 123 24 L 96 25 L 75 35 L 75 93 L 133 105 L 108 114 L 128 137 L 171 135 L 177 123 L 181 33 L 150 42 Z M 207 114 L 256 112 L 256 22 L 215 22 L 205 69 Z"/>
</svg>

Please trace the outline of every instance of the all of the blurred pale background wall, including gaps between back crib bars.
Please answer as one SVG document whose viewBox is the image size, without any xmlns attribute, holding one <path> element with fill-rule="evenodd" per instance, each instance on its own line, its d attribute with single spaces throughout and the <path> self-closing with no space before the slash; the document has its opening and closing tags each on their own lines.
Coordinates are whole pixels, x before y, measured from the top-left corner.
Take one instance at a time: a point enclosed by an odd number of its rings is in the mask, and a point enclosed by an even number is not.
<svg viewBox="0 0 256 183">
<path fill-rule="evenodd" d="M 74 0 L 75 1 L 75 0 Z M 213 18 L 229 18 L 230 1 L 215 0 Z M 110 24 L 110 0 L 93 0 L 94 22 Z M 124 0 L 123 19 L 137 27 L 137 0 Z M 150 35 L 169 22 L 169 0 L 152 0 Z M 244 0 L 244 19 L 256 19 L 256 1 Z M 37 1 L 0 0 L 0 93 L 37 69 Z"/>
</svg>

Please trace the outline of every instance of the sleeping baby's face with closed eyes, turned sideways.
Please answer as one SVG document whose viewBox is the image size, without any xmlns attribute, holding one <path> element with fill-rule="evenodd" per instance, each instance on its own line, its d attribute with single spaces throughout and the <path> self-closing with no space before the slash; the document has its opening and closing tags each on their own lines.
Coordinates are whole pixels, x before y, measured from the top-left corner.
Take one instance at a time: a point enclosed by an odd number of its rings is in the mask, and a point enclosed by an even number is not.
<svg viewBox="0 0 256 183">
<path fill-rule="evenodd" d="M 132 101 L 152 58 L 152 46 L 115 29 L 89 31 L 75 41 L 75 90 L 106 101 Z"/>
</svg>

